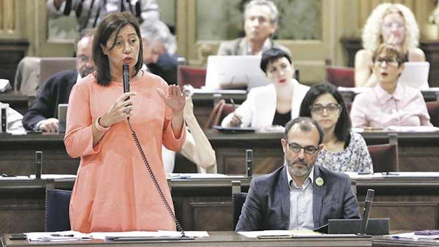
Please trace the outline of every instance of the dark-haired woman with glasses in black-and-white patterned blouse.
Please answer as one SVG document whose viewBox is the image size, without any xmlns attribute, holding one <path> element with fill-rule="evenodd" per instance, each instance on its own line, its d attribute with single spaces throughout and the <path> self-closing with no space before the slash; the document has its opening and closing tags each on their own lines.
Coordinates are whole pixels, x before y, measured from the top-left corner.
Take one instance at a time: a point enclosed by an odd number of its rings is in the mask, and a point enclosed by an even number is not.
<svg viewBox="0 0 439 247">
<path fill-rule="evenodd" d="M 316 120 L 325 133 L 316 164 L 337 172 L 373 173 L 366 142 L 351 131 L 348 110 L 333 85 L 312 86 L 303 98 L 299 114 Z"/>
</svg>

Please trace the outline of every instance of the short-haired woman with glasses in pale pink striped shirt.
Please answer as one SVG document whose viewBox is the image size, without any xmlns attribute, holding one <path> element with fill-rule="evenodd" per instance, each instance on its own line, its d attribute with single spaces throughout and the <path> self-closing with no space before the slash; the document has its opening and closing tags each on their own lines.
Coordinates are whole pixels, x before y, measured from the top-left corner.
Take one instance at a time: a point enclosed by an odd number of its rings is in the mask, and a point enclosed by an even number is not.
<svg viewBox="0 0 439 247">
<path fill-rule="evenodd" d="M 352 125 L 377 128 L 432 126 L 421 91 L 398 83 L 405 61 L 401 50 L 392 44 L 382 44 L 372 59 L 378 85 L 355 97 Z"/>
</svg>

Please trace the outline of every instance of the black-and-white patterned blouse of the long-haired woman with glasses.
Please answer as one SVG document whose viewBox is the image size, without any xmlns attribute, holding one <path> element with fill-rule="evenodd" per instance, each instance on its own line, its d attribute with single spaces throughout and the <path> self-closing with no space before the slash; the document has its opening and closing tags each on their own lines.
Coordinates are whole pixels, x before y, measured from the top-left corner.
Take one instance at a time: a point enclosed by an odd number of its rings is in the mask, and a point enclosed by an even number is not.
<svg viewBox="0 0 439 247">
<path fill-rule="evenodd" d="M 351 132 L 349 145 L 341 152 L 320 151 L 316 164 L 335 172 L 373 173 L 374 168 L 366 141 L 355 132 Z"/>
</svg>

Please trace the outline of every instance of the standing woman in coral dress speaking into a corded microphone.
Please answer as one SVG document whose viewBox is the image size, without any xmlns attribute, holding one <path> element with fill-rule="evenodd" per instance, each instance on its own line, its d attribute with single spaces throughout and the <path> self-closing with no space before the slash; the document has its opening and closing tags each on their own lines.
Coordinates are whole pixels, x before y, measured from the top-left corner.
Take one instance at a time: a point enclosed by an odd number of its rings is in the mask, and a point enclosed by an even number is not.
<svg viewBox="0 0 439 247">
<path fill-rule="evenodd" d="M 64 144 L 81 157 L 70 200 L 74 231 L 175 230 L 161 157 L 162 143 L 179 151 L 186 137 L 186 92 L 141 70 L 142 42 L 129 12 L 104 18 L 93 40 L 97 71 L 72 89 Z M 131 92 L 123 93 L 122 66 L 129 65 Z M 127 118 L 129 117 L 129 120 Z M 165 207 L 133 140 L 130 127 L 163 191 Z"/>
</svg>

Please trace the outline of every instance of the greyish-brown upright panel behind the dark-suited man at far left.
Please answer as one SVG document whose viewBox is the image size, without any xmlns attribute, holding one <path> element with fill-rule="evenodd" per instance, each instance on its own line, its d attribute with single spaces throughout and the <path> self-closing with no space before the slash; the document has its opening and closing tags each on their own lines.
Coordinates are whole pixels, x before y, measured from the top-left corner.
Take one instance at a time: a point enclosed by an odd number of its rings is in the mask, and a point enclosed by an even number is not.
<svg viewBox="0 0 439 247">
<path fill-rule="evenodd" d="M 41 57 L 39 85 L 40 87 L 50 76 L 67 69 L 76 68 L 75 57 Z"/>
</svg>

